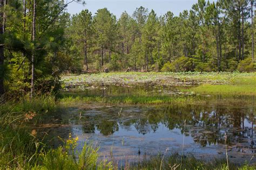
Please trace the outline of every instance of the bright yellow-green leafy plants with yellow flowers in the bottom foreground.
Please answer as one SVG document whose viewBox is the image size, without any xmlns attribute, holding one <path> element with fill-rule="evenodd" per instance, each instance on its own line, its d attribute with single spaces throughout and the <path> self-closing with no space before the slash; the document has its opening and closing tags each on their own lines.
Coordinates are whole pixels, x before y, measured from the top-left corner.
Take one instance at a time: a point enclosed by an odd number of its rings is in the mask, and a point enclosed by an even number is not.
<svg viewBox="0 0 256 170">
<path fill-rule="evenodd" d="M 84 144 L 82 151 L 77 149 L 78 138 L 70 138 L 64 146 L 55 150 L 41 153 L 42 162 L 35 169 L 96 169 L 98 161 L 98 148 L 91 144 Z M 77 155 L 75 155 L 77 154 Z M 78 159 L 77 159 L 78 158 Z M 110 162 L 111 165 L 111 162 Z"/>
</svg>

